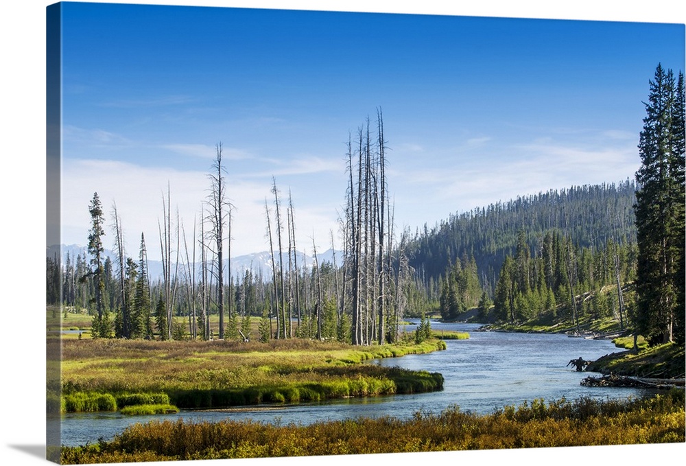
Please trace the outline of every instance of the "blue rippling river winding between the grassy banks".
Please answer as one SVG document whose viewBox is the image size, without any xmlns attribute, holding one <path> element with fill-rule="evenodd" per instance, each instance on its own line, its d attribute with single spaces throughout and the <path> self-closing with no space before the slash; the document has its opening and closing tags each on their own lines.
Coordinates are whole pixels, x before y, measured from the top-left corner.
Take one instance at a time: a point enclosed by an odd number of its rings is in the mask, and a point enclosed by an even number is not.
<svg viewBox="0 0 686 466">
<path fill-rule="evenodd" d="M 431 328 L 467 331 L 468 340 L 447 340 L 445 351 L 374 360 L 368 364 L 440 372 L 443 390 L 417 395 L 391 395 L 335 400 L 293 406 L 260 406 L 228 410 L 182 411 L 174 415 L 128 417 L 117 412 L 62 415 L 62 445 L 83 445 L 110 440 L 132 423 L 152 419 L 221 421 L 253 419 L 276 423 L 313 423 L 356 417 L 411 417 L 415 412 L 440 412 L 453 405 L 463 411 L 488 414 L 496 408 L 532 399 L 551 401 L 565 397 L 615 399 L 639 397 L 637 388 L 594 388 L 580 385 L 592 373 L 577 372 L 567 362 L 578 357 L 595 360 L 620 351 L 608 340 L 586 340 L 561 334 L 517 334 L 477 331 L 480 325 L 432 322 Z M 412 331 L 413 325 L 406 331 Z"/>
</svg>

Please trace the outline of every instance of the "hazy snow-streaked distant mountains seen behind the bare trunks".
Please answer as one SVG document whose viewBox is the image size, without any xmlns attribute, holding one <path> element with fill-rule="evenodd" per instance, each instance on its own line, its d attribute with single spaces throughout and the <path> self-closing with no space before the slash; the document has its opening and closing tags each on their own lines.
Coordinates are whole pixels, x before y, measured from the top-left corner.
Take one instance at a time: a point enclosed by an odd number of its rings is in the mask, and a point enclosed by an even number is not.
<svg viewBox="0 0 686 466">
<path fill-rule="evenodd" d="M 60 256 L 60 251 L 61 251 L 61 257 L 62 257 L 62 265 L 67 263 L 67 255 L 69 255 L 70 260 L 72 263 L 75 263 L 76 257 L 78 255 L 81 255 L 81 257 L 85 257 L 86 261 L 89 261 L 91 259 L 90 255 L 88 255 L 88 248 L 86 246 L 80 246 L 78 244 L 62 244 L 61 247 L 58 244 L 54 244 L 53 246 L 49 246 L 47 248 L 47 257 L 54 258 L 56 256 Z M 324 262 L 329 262 L 333 264 L 333 255 L 335 253 L 335 259 L 336 259 L 336 265 L 340 266 L 342 264 L 342 258 L 343 258 L 343 253 L 342 251 L 334 251 L 333 249 L 329 249 L 327 251 L 324 251 L 323 253 L 318 253 L 317 254 L 317 259 L 320 264 L 324 264 Z M 314 265 L 314 257 L 311 257 L 309 255 L 306 255 L 305 253 L 297 253 L 298 254 L 298 268 L 302 269 L 303 267 L 307 268 L 307 270 L 311 270 L 312 266 Z M 105 250 L 105 256 L 110 257 L 111 260 L 115 260 L 115 252 L 111 251 L 110 249 Z M 132 259 L 135 261 L 138 261 L 138 254 L 135 256 L 131 256 Z M 278 253 L 275 254 L 274 257 L 276 261 L 276 267 L 279 267 L 279 255 Z M 288 253 L 286 251 L 283 252 L 283 265 L 284 267 L 287 267 L 287 261 L 288 261 Z M 149 260 L 147 262 L 148 266 L 148 274 L 150 275 L 150 278 L 152 281 L 155 281 L 156 279 L 162 279 L 163 277 L 163 266 L 162 266 L 162 261 L 155 261 L 155 260 Z M 179 273 L 182 273 L 181 270 L 182 265 L 179 264 Z M 198 265 L 198 270 L 200 270 L 200 266 Z M 224 261 L 224 270 L 228 270 L 228 261 Z M 252 270 L 253 275 L 257 275 L 259 272 L 262 273 L 263 277 L 265 279 L 270 279 L 272 277 L 272 259 L 269 251 L 262 251 L 260 253 L 251 253 L 251 254 L 246 254 L 246 255 L 240 255 L 236 257 L 231 257 L 231 275 L 235 277 L 243 277 L 245 274 L 246 270 Z"/>
</svg>

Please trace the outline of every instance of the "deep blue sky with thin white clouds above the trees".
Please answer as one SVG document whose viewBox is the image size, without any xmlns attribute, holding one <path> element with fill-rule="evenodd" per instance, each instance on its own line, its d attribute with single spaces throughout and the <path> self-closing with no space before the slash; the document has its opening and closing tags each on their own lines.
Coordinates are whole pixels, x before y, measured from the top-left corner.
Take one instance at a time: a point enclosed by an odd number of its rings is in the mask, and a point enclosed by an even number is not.
<svg viewBox="0 0 686 466">
<path fill-rule="evenodd" d="M 191 235 L 219 142 L 233 254 L 268 248 L 272 176 L 298 248 L 331 230 L 340 247 L 345 142 L 379 107 L 398 230 L 632 178 L 648 80 L 684 69 L 683 24 L 84 3 L 63 18 L 62 242 L 86 243 L 97 191 L 134 257 L 141 231 L 159 249 L 167 182 Z"/>
</svg>

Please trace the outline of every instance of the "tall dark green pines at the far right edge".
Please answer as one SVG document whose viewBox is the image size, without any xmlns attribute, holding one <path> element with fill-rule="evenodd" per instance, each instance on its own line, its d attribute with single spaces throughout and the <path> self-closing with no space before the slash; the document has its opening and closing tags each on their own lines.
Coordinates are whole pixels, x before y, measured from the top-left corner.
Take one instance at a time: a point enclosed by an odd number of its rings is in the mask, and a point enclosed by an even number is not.
<svg viewBox="0 0 686 466">
<path fill-rule="evenodd" d="M 683 306 L 678 307 L 683 303 L 684 281 L 681 73 L 678 86 L 677 90 L 672 71 L 658 65 L 650 81 L 639 139 L 641 167 L 636 172 L 635 204 L 639 256 L 634 322 L 637 333 L 651 344 L 673 341 L 675 325 L 677 329 L 680 322 L 683 325 Z"/>
</svg>

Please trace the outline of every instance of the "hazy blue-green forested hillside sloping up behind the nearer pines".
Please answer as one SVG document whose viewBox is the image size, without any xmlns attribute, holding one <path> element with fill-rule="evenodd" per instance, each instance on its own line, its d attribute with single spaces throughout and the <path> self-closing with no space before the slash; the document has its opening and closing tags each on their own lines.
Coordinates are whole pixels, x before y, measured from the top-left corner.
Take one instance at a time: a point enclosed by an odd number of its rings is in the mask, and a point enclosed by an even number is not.
<svg viewBox="0 0 686 466">
<path fill-rule="evenodd" d="M 439 277 L 458 260 L 469 264 L 473 259 L 481 286 L 493 295 L 500 268 L 507 255 L 514 255 L 521 231 L 531 255 L 541 250 L 545 233 L 553 230 L 581 248 L 604 248 L 610 239 L 635 243 L 635 190 L 635 183 L 625 180 L 551 189 L 477 207 L 451 215 L 432 229 L 425 224 L 408 244 L 407 257 L 430 293 L 440 291 Z"/>
</svg>

